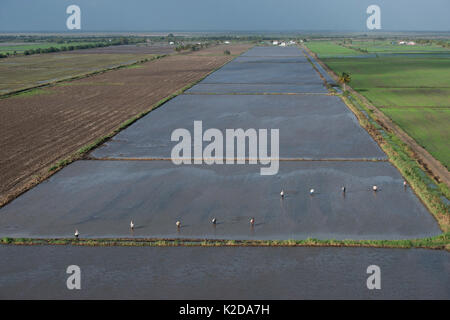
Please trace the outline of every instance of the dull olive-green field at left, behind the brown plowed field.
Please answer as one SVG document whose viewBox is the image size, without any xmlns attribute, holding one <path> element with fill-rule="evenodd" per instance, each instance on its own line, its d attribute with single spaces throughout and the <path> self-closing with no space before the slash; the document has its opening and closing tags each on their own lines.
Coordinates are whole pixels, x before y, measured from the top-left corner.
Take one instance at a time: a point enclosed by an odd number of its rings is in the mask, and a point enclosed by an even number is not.
<svg viewBox="0 0 450 320">
<path fill-rule="evenodd" d="M 150 54 L 37 54 L 0 59 L 0 93 L 151 59 Z"/>
</svg>

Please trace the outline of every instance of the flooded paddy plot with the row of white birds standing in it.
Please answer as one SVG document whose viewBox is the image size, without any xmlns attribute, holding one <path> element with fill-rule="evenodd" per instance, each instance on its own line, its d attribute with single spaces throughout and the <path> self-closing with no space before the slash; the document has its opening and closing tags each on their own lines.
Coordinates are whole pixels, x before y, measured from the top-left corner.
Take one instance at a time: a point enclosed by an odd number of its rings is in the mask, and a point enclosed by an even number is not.
<svg viewBox="0 0 450 320">
<path fill-rule="evenodd" d="M 0 237 L 71 237 L 75 229 L 91 238 L 404 239 L 440 233 L 388 162 L 282 161 L 277 175 L 261 176 L 254 164 L 78 161 L 0 210 Z"/>
</svg>

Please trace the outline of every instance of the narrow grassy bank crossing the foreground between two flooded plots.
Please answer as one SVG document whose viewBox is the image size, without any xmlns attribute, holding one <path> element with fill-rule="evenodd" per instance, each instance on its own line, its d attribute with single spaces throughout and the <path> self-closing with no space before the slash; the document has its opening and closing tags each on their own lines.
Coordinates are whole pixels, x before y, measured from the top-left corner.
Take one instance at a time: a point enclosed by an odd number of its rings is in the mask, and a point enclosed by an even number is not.
<svg viewBox="0 0 450 320">
<path fill-rule="evenodd" d="M 136 247 L 371 247 L 425 248 L 450 251 L 450 233 L 431 238 L 409 240 L 208 240 L 208 239 L 32 239 L 3 238 L 4 245 L 78 245 L 78 246 L 136 246 Z"/>
</svg>

